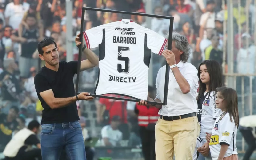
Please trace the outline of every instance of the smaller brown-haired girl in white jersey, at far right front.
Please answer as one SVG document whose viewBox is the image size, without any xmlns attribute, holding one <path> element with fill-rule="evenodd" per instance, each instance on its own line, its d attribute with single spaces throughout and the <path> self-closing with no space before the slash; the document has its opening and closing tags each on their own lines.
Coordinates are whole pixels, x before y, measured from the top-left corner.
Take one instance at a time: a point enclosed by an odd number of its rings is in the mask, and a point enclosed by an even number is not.
<svg viewBox="0 0 256 160">
<path fill-rule="evenodd" d="M 217 90 L 216 107 L 222 113 L 217 117 L 209 141 L 212 160 L 238 160 L 236 132 L 239 124 L 238 98 L 232 88 Z"/>
</svg>

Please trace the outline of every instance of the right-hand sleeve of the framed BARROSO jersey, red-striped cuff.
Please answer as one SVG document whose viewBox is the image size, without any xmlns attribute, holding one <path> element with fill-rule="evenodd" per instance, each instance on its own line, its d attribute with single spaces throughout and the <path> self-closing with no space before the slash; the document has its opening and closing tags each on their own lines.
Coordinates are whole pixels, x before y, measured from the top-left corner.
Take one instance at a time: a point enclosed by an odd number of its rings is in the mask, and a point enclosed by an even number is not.
<svg viewBox="0 0 256 160">
<path fill-rule="evenodd" d="M 148 48 L 151 49 L 151 52 L 161 55 L 167 39 L 150 29 L 148 29 L 146 34 Z"/>
</svg>

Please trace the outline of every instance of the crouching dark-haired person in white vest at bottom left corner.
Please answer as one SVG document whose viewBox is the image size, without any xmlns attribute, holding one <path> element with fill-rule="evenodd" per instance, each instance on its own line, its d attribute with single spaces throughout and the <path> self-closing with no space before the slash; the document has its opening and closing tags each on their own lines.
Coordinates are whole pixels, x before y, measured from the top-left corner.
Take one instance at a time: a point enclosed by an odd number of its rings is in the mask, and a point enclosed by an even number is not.
<svg viewBox="0 0 256 160">
<path fill-rule="evenodd" d="M 40 124 L 34 120 L 17 132 L 12 140 L 4 148 L 5 160 L 41 160 L 41 145 L 36 134 L 39 132 Z M 36 149 L 31 149 L 35 145 Z"/>
</svg>

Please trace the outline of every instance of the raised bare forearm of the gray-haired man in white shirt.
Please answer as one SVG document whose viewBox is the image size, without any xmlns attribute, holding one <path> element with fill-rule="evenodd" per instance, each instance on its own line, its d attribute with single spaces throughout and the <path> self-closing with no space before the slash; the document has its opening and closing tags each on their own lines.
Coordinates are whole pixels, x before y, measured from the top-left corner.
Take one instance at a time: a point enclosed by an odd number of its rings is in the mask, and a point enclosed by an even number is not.
<svg viewBox="0 0 256 160">
<path fill-rule="evenodd" d="M 187 94 L 188 92 L 190 92 L 190 85 L 189 85 L 188 81 L 180 73 L 179 68 L 178 67 L 172 68 L 172 73 L 173 73 L 177 83 L 179 84 L 182 93 Z"/>
</svg>

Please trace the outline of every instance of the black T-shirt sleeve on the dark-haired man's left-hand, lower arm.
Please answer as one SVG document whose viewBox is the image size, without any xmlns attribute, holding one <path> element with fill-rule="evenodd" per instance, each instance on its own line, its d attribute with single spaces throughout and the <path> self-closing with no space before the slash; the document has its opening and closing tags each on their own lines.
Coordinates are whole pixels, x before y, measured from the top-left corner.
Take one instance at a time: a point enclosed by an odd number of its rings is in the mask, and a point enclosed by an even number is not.
<svg viewBox="0 0 256 160">
<path fill-rule="evenodd" d="M 43 76 L 40 76 L 40 75 L 35 76 L 34 84 L 35 84 L 36 92 L 38 94 L 41 93 L 41 92 L 47 91 L 49 89 L 52 89 L 50 87 L 48 81 L 46 80 L 46 78 L 44 78 Z"/>
</svg>

